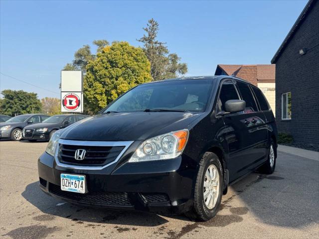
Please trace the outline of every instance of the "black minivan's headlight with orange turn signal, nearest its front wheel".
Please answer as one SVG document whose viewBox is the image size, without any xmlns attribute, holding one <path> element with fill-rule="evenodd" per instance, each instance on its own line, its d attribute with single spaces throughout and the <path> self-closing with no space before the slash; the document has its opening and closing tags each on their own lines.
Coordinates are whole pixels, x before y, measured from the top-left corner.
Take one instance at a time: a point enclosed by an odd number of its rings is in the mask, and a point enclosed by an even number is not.
<svg viewBox="0 0 319 239">
<path fill-rule="evenodd" d="M 188 129 L 183 129 L 149 138 L 138 147 L 129 162 L 176 158 L 183 152 L 188 134 Z"/>
</svg>

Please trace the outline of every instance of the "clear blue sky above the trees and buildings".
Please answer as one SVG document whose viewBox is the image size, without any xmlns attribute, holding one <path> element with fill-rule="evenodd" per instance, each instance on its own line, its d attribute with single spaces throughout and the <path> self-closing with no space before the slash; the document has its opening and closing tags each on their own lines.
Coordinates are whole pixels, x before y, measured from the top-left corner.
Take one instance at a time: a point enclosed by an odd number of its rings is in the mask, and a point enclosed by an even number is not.
<svg viewBox="0 0 319 239">
<path fill-rule="evenodd" d="M 136 39 L 152 17 L 160 25 L 158 39 L 187 63 L 186 76 L 214 75 L 217 64 L 270 64 L 306 4 L 0 0 L 0 91 L 60 98 L 60 71 L 77 49 L 98 39 L 142 46 Z"/>
</svg>

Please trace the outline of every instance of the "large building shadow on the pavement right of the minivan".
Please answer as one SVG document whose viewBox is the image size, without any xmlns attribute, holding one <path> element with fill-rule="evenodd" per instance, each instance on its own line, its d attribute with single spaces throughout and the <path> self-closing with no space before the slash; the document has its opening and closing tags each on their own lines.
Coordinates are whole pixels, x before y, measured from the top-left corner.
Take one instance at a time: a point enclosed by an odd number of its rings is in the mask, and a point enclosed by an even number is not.
<svg viewBox="0 0 319 239">
<path fill-rule="evenodd" d="M 263 223 L 302 228 L 319 223 L 319 163 L 278 153 L 271 175 L 252 173 L 231 188 Z M 227 203 L 230 206 L 230 201 Z"/>
</svg>

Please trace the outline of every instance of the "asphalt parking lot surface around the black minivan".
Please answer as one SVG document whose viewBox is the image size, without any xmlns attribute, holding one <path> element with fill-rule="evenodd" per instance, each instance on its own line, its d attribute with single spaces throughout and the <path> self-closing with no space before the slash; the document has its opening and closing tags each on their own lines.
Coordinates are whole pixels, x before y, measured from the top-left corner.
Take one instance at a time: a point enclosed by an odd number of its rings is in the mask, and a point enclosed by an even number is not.
<svg viewBox="0 0 319 239">
<path fill-rule="evenodd" d="M 258 173 L 230 187 L 217 216 L 90 209 L 38 188 L 37 157 L 46 142 L 0 142 L 1 238 L 319 238 L 319 160 L 279 152 L 272 175 Z"/>
</svg>

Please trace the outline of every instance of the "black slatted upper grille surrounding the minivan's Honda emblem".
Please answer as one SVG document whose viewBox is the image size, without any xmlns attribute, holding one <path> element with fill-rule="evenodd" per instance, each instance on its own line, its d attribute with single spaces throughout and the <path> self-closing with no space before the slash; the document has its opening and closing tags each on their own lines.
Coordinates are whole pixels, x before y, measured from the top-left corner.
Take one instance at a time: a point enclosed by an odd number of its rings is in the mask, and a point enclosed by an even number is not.
<svg viewBox="0 0 319 239">
<path fill-rule="evenodd" d="M 85 149 L 85 157 L 83 160 L 74 158 L 77 149 Z M 61 163 L 73 165 L 106 165 L 114 161 L 124 149 L 124 146 L 79 146 L 60 144 L 59 161 Z"/>
</svg>

